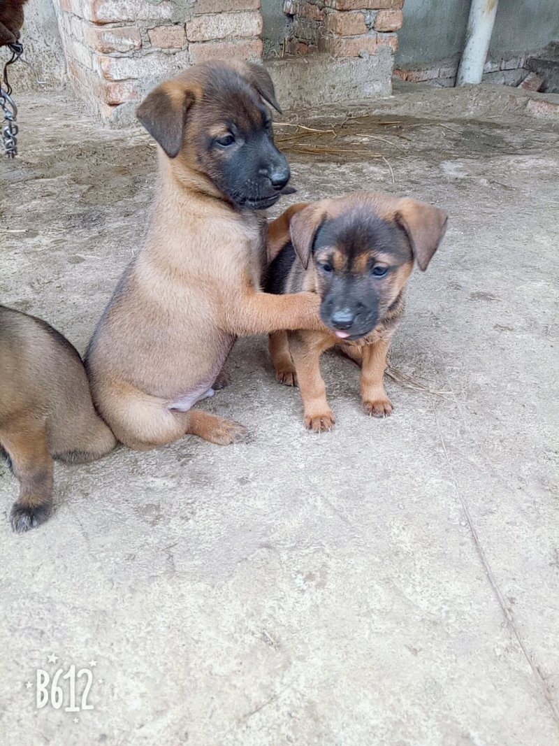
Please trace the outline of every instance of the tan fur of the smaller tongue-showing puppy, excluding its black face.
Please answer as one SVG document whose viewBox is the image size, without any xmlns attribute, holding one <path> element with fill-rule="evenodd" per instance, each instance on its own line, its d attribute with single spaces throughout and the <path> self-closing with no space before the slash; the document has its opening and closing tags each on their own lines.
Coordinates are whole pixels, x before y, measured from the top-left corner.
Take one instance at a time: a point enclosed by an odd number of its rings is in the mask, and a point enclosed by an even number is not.
<svg viewBox="0 0 559 746">
<path fill-rule="evenodd" d="M 446 230 L 446 214 L 423 202 L 398 199 L 376 192 L 357 192 L 344 198 L 326 199 L 312 204 L 296 204 L 271 223 L 268 260 L 273 261 L 291 241 L 303 263 L 295 260 L 285 278 L 285 292 L 318 292 L 317 267 L 312 256 L 312 242 L 319 225 L 353 210 L 369 210 L 388 224 L 397 223 L 408 236 L 411 251 L 409 260 L 381 280 L 379 305 L 384 308 L 376 327 L 356 342 L 344 343 L 330 330 L 278 331 L 269 340 L 270 354 L 278 380 L 288 386 L 298 384 L 304 407 L 304 424 L 309 430 L 331 430 L 335 416 L 326 399 L 326 386 L 320 375 L 320 356 L 338 345 L 341 351 L 361 366 L 361 401 L 364 412 L 374 417 L 392 413 L 392 403 L 383 382 L 388 348 L 402 317 L 405 286 L 413 269 L 414 259 L 420 269 L 426 269 Z M 359 214 L 359 213 L 357 213 Z M 361 213 L 362 214 L 362 213 Z M 342 271 L 349 257 L 343 248 L 329 247 L 332 264 Z M 375 254 L 375 247 L 353 257 L 351 271 L 354 278 L 368 271 L 367 264 Z"/>
</svg>

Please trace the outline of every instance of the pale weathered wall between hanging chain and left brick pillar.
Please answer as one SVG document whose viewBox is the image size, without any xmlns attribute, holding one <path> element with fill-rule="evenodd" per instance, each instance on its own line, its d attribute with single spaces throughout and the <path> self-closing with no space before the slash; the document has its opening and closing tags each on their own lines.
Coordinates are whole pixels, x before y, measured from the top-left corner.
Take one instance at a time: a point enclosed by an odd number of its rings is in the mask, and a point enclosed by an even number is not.
<svg viewBox="0 0 559 746">
<path fill-rule="evenodd" d="M 45 87 L 63 84 L 66 60 L 53 0 L 29 0 L 25 6 L 25 25 L 22 30 L 25 58 L 34 66 L 22 62 L 10 67 L 10 83 L 14 90 L 37 90 L 37 78 Z M 7 49 L 0 50 L 0 62 L 10 57 Z"/>
</svg>

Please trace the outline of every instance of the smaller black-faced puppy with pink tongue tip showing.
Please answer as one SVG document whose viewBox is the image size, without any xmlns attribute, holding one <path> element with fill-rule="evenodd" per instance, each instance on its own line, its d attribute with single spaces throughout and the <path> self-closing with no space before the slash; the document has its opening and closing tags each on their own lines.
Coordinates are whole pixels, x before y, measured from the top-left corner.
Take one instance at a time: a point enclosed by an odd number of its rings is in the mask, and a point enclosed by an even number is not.
<svg viewBox="0 0 559 746">
<path fill-rule="evenodd" d="M 320 316 L 331 330 L 270 336 L 277 376 L 291 386 L 298 382 L 309 430 L 331 430 L 335 423 L 320 376 L 320 355 L 334 345 L 362 363 L 364 411 L 392 413 L 382 379 L 405 286 L 414 260 L 427 269 L 445 230 L 442 210 L 376 192 L 296 204 L 271 223 L 266 289 L 318 293 Z"/>
</svg>

